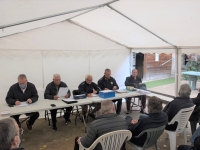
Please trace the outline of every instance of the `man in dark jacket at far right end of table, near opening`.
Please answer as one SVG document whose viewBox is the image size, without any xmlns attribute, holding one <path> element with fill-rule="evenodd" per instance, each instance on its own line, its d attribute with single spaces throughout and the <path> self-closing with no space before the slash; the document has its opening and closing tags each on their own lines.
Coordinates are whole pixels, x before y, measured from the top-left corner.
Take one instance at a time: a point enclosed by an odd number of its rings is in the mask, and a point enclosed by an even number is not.
<svg viewBox="0 0 200 150">
<path fill-rule="evenodd" d="M 126 77 L 125 86 L 133 86 L 137 88 L 138 84 L 142 83 L 142 80 L 137 76 L 137 73 L 137 69 L 132 70 L 132 75 L 130 77 Z M 144 113 L 144 109 L 146 107 L 146 95 L 141 95 L 138 98 L 141 98 L 142 104 L 140 113 Z M 132 97 L 126 98 L 127 114 L 130 113 L 131 99 Z"/>
</svg>

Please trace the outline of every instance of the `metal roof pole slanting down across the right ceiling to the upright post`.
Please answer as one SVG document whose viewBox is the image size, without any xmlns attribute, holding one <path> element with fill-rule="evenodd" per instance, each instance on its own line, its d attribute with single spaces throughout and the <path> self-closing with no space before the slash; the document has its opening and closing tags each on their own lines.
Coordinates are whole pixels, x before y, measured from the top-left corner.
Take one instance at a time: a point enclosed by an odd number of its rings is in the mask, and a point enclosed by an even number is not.
<svg viewBox="0 0 200 150">
<path fill-rule="evenodd" d="M 164 40 L 163 38 L 161 38 L 160 36 L 156 35 L 155 33 L 153 33 L 152 31 L 148 30 L 147 28 L 145 28 L 144 26 L 140 25 L 139 23 L 137 23 L 136 21 L 132 20 L 131 18 L 127 17 L 126 15 L 122 14 L 120 11 L 116 10 L 115 8 L 111 7 L 110 5 L 107 5 L 110 9 L 114 10 L 115 12 L 119 13 L 120 15 L 122 15 L 123 17 L 125 17 L 126 19 L 132 21 L 133 23 L 137 24 L 138 26 L 140 26 L 141 28 L 143 28 L 144 30 L 148 31 L 149 33 L 153 34 L 154 36 L 156 36 L 157 38 L 161 39 L 162 41 L 168 43 L 169 45 L 173 46 L 174 48 L 176 47 L 175 45 L 171 44 L 170 42 Z"/>
</svg>

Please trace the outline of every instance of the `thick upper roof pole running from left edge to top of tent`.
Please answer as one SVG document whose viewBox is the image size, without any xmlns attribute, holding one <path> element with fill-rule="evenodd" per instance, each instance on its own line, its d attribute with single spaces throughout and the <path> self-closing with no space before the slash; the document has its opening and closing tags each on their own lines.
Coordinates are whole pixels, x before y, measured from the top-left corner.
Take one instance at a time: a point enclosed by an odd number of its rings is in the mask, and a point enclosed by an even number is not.
<svg viewBox="0 0 200 150">
<path fill-rule="evenodd" d="M 47 18 L 57 17 L 57 16 L 61 16 L 61 15 L 66 15 L 66 14 L 70 14 L 70 13 L 74 13 L 74 12 L 79 12 L 79 11 L 83 11 L 83 10 L 99 8 L 99 7 L 103 7 L 103 6 L 106 6 L 108 4 L 114 3 L 116 1 L 118 1 L 118 0 L 113 0 L 111 2 L 108 2 L 108 3 L 105 3 L 105 4 L 101 4 L 101 5 L 97 5 L 97 6 L 85 7 L 85 8 L 80 8 L 80 9 L 72 10 L 72 11 L 62 12 L 62 13 L 59 13 L 59 14 L 54 14 L 54 15 L 49 15 L 49 16 L 44 16 L 44 17 L 39 17 L 39 18 L 35 18 L 35 19 L 31 19 L 31 20 L 25 20 L 25 21 L 21 21 L 21 22 L 17 22 L 17 23 L 11 23 L 11 24 L 0 26 L 0 29 L 4 29 L 4 28 L 7 28 L 7 27 L 12 27 L 12 26 L 16 26 L 16 25 L 20 25 L 20 24 L 25 24 L 25 23 L 29 23 L 29 22 L 34 22 L 34 21 L 38 21 L 38 20 L 43 20 L 43 19 L 47 19 Z"/>
</svg>

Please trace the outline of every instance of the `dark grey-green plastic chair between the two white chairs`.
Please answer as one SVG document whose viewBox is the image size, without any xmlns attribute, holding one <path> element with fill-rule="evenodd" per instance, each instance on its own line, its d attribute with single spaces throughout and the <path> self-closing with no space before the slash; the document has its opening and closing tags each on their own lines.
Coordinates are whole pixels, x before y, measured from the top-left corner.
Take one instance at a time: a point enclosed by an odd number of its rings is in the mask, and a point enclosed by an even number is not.
<svg viewBox="0 0 200 150">
<path fill-rule="evenodd" d="M 146 148 L 149 148 L 153 145 L 155 145 L 156 150 L 158 150 L 157 140 L 162 135 L 164 129 L 165 129 L 165 125 L 158 128 L 150 128 L 150 129 L 146 129 L 142 131 L 138 136 L 135 136 L 135 138 L 140 138 L 145 133 L 147 134 L 146 141 L 144 142 L 144 145 L 142 147 L 139 145 L 133 144 L 131 141 L 128 141 L 127 143 L 130 144 L 134 150 L 145 150 Z"/>
</svg>

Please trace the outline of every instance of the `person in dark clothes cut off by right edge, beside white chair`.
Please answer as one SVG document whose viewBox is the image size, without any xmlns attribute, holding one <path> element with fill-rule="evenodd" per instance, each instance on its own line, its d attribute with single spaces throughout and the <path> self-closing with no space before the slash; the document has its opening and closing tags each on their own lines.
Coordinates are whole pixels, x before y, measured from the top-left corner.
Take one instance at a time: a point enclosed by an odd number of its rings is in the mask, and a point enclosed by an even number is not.
<svg viewBox="0 0 200 150">
<path fill-rule="evenodd" d="M 200 88 L 199 88 L 199 93 L 196 98 L 191 98 L 193 103 L 196 105 L 194 108 L 193 113 L 190 116 L 190 127 L 192 134 L 194 134 L 196 128 L 197 128 L 197 123 L 200 121 Z"/>
</svg>

